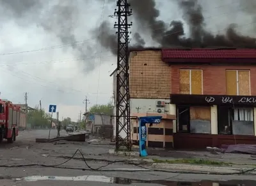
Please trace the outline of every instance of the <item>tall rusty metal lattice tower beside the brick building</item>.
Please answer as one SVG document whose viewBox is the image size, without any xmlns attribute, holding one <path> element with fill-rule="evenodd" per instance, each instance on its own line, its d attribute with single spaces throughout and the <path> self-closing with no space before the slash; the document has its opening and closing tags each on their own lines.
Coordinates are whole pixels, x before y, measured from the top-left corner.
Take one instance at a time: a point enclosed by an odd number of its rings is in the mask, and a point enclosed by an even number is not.
<svg viewBox="0 0 256 186">
<path fill-rule="evenodd" d="M 138 0 L 140 1 L 140 0 Z M 117 71 L 116 71 L 116 150 L 125 147 L 131 150 L 130 92 L 129 92 L 129 31 L 131 24 L 130 4 L 127 0 L 118 0 L 115 16 L 115 28 L 118 35 Z"/>
</svg>

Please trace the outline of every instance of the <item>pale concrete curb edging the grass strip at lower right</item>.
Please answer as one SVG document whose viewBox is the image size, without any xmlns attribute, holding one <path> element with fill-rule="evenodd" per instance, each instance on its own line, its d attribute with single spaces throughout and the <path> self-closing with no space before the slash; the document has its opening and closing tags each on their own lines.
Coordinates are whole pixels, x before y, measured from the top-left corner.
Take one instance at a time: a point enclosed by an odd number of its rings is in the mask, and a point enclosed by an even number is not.
<svg viewBox="0 0 256 186">
<path fill-rule="evenodd" d="M 152 164 L 154 169 L 172 169 L 180 171 L 198 171 L 206 173 L 219 173 L 219 174 L 236 174 L 243 173 L 243 171 L 248 171 L 250 169 L 240 169 L 240 168 L 228 168 L 228 167 L 216 167 L 216 166 L 199 166 L 199 165 L 189 165 L 189 164 L 164 164 L 164 163 L 154 163 Z M 256 174 L 255 171 L 250 171 L 250 174 Z"/>
</svg>

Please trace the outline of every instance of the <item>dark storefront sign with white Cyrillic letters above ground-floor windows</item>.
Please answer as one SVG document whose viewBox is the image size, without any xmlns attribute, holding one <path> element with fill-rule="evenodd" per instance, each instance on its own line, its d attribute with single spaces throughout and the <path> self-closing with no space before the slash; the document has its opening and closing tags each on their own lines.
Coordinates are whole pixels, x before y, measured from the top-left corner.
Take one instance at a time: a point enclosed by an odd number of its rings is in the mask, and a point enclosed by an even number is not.
<svg viewBox="0 0 256 186">
<path fill-rule="evenodd" d="M 256 96 L 219 96 L 171 94 L 173 104 L 216 104 L 216 105 L 256 105 Z"/>
</svg>

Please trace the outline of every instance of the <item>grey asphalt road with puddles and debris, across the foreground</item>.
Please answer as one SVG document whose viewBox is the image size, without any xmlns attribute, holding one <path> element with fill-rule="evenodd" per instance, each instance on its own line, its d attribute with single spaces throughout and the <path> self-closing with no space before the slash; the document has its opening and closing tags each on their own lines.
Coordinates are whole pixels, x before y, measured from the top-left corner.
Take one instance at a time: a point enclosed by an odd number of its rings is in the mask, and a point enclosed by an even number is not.
<svg viewBox="0 0 256 186">
<path fill-rule="evenodd" d="M 92 145 L 84 143 L 35 143 L 35 138 L 47 138 L 49 131 L 22 131 L 13 144 L 0 145 L 0 185 L 4 186 L 30 186 L 30 185 L 175 185 L 171 182 L 198 182 L 201 180 L 225 181 L 233 180 L 236 184 L 244 186 L 255 185 L 255 176 L 219 176 L 165 173 L 160 171 L 146 171 L 141 167 L 116 163 L 109 164 L 103 171 L 92 170 L 107 165 L 106 161 L 87 161 L 71 159 L 77 149 L 83 152 L 86 158 L 109 160 L 115 157 L 108 155 L 110 145 Z M 51 132 L 52 138 L 57 132 Z M 67 135 L 62 131 L 61 135 Z M 75 157 L 78 157 L 76 155 Z M 81 155 L 79 155 L 81 157 Z M 67 162 L 65 162 L 67 161 Z M 65 164 L 62 164 L 65 162 Z M 24 166 L 30 164 L 29 166 Z M 47 166 L 35 167 L 31 164 L 44 164 Z M 62 164 L 61 168 L 52 165 Z M 23 166 L 20 166 L 23 165 Z M 9 167 L 7 167 L 9 166 Z M 11 167 L 10 167 L 11 166 Z M 90 168 L 88 168 L 90 166 Z M 126 171 L 124 171 L 124 169 Z M 236 180 L 236 181 L 234 181 Z M 237 181 L 242 180 L 242 181 Z M 145 182 L 145 183 L 143 183 Z M 211 182 L 211 181 L 207 181 Z"/>
</svg>

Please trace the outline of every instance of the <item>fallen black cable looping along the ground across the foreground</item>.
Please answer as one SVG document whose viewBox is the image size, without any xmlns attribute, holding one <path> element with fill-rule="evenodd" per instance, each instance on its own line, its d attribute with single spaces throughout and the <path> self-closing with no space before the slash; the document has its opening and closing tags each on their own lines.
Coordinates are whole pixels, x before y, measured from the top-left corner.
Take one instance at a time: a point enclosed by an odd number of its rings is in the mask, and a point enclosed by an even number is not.
<svg viewBox="0 0 256 186">
<path fill-rule="evenodd" d="M 72 159 L 74 159 L 74 156 L 77 154 L 77 152 L 79 152 L 79 154 L 81 154 L 84 164 L 87 166 L 87 168 L 74 168 L 74 167 L 63 167 L 62 165 L 67 163 L 68 161 L 71 161 Z M 97 159 L 95 159 L 95 161 L 97 161 Z M 125 164 L 131 164 L 134 166 L 138 166 L 140 168 L 143 168 L 144 170 L 129 170 L 129 169 L 101 169 L 101 168 L 106 168 L 107 166 L 111 165 L 111 164 L 115 164 L 118 162 L 123 162 Z M 58 168 L 58 169 L 76 169 L 76 170 L 82 170 L 82 171 L 102 171 L 102 172 L 143 172 L 143 171 L 156 171 L 156 172 L 163 172 L 163 173 L 178 173 L 178 174 L 196 174 L 196 175 L 244 175 L 246 173 L 252 173 L 253 171 L 256 171 L 256 168 L 252 168 L 252 169 L 247 169 L 247 170 L 241 170 L 237 173 L 205 173 L 205 172 L 200 172 L 200 171 L 167 171 L 167 170 L 163 170 L 163 169 L 152 169 L 152 168 L 145 168 L 144 166 L 140 166 L 140 164 L 136 164 L 134 162 L 128 162 L 128 161 L 113 161 L 113 162 L 109 162 L 108 164 L 105 164 L 103 166 L 99 166 L 98 168 L 92 168 L 91 166 L 89 166 L 89 164 L 86 162 L 86 158 L 84 157 L 83 153 L 81 152 L 81 150 L 77 149 L 76 152 L 72 155 L 72 157 L 70 157 L 69 159 L 67 159 L 67 161 L 64 161 L 60 164 L 55 164 L 55 165 L 45 165 L 45 164 L 3 164 L 0 165 L 0 168 L 21 168 L 21 167 L 46 167 L 46 168 Z M 255 174 L 251 174 L 251 175 L 255 175 Z"/>
</svg>

